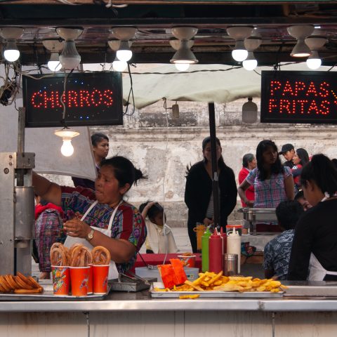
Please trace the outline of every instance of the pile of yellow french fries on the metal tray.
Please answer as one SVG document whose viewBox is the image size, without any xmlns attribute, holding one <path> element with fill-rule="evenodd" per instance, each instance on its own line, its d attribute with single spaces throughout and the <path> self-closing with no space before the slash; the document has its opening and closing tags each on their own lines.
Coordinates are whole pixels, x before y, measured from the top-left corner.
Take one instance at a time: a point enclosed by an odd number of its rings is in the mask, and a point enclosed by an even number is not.
<svg viewBox="0 0 337 337">
<path fill-rule="evenodd" d="M 155 288 L 154 291 L 270 291 L 278 293 L 286 289 L 286 286 L 275 279 L 258 279 L 241 276 L 223 276 L 223 272 L 201 272 L 193 282 L 185 281 L 185 284 L 173 286 L 172 289 Z"/>
</svg>

